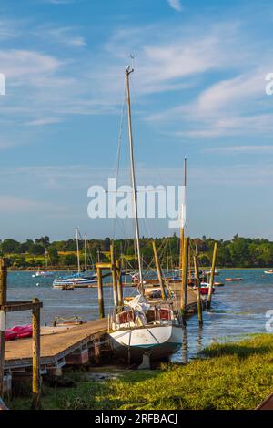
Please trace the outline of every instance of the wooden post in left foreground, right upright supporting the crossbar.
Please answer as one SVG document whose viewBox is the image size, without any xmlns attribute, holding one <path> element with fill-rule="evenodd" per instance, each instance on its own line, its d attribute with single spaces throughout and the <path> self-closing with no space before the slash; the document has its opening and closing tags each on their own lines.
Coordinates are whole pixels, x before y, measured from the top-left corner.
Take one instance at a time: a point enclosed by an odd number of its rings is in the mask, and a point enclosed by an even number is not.
<svg viewBox="0 0 273 428">
<path fill-rule="evenodd" d="M 32 362 L 32 409 L 41 409 L 41 373 L 40 373 L 40 307 L 35 305 L 39 299 L 33 299 L 33 362 Z"/>
</svg>

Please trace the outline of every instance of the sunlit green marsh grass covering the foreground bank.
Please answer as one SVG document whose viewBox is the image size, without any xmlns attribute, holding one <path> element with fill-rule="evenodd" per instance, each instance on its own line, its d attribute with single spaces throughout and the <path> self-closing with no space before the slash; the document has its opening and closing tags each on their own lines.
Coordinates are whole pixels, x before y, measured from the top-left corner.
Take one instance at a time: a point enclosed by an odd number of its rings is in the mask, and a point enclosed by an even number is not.
<svg viewBox="0 0 273 428">
<path fill-rule="evenodd" d="M 187 365 L 164 364 L 157 371 L 123 371 L 117 380 L 94 382 L 74 376 L 76 388 L 44 387 L 44 409 L 254 409 L 273 392 L 273 336 L 214 344 Z M 76 378 L 77 376 L 77 378 Z M 29 398 L 10 407 L 29 408 Z"/>
</svg>

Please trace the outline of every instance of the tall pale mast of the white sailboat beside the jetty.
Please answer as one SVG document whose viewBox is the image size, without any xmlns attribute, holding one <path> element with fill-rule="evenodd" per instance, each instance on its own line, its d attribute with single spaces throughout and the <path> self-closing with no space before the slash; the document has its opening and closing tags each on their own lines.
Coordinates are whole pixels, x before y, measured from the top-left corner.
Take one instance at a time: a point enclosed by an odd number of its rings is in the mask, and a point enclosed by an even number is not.
<svg viewBox="0 0 273 428">
<path fill-rule="evenodd" d="M 139 244 L 139 225 L 137 216 L 137 196 L 136 196 L 136 175 L 135 175 L 135 159 L 134 159 L 134 145 L 133 145 L 133 134 L 132 134 L 132 117 L 131 117 L 131 101 L 130 101 L 130 83 L 129 76 L 134 72 L 134 69 L 128 66 L 126 68 L 126 97 L 127 97 L 127 117 L 128 117 L 128 133 L 129 133 L 129 148 L 130 148 L 130 162 L 131 162 L 131 182 L 133 188 L 133 204 L 135 214 L 135 229 L 136 229 L 136 252 L 137 262 L 139 271 L 140 291 L 143 294 L 143 276 L 142 276 L 142 264 L 140 255 L 140 244 Z"/>
</svg>

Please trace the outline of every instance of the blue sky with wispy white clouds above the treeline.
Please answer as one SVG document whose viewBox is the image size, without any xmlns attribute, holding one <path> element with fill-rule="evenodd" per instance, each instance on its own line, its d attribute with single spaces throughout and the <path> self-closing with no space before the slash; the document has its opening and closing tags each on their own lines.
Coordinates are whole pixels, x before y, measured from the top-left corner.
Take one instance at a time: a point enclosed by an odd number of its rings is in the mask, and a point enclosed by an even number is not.
<svg viewBox="0 0 273 428">
<path fill-rule="evenodd" d="M 137 182 L 181 184 L 187 156 L 191 237 L 273 239 L 272 23 L 263 0 L 3 0 L 0 239 L 132 235 L 87 216 L 87 189 L 115 177 L 121 123 L 127 174 L 128 65 Z"/>
</svg>

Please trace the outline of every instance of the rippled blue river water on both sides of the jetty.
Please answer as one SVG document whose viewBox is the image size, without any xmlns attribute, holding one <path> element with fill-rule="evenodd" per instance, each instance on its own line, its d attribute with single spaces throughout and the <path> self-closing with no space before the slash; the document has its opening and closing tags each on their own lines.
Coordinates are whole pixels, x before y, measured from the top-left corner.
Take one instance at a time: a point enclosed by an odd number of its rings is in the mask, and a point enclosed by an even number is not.
<svg viewBox="0 0 273 428">
<path fill-rule="evenodd" d="M 33 278 L 33 272 L 8 273 L 8 300 L 27 301 L 37 297 L 43 301 L 42 325 L 50 324 L 56 316 L 68 319 L 79 316 L 83 320 L 97 318 L 97 290 L 55 290 L 53 278 Z M 59 276 L 60 272 L 56 273 Z M 248 333 L 266 332 L 266 312 L 273 310 L 273 275 L 264 270 L 220 270 L 217 280 L 241 277 L 239 282 L 226 282 L 213 294 L 212 308 L 204 311 L 204 326 L 198 327 L 197 316 L 187 321 L 183 334 L 183 346 L 173 360 L 187 362 L 213 341 L 238 340 Z M 134 295 L 136 290 L 126 287 L 125 295 Z M 104 290 L 106 314 L 111 311 L 112 292 Z M 30 322 L 30 312 L 15 312 L 7 315 L 7 326 Z"/>
</svg>

